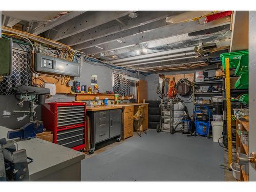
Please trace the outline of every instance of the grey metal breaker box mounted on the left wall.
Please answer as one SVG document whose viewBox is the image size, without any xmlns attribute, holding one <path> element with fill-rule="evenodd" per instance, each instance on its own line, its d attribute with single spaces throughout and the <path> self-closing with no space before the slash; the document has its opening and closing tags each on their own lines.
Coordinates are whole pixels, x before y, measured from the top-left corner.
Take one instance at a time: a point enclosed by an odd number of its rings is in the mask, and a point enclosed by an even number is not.
<svg viewBox="0 0 256 192">
<path fill-rule="evenodd" d="M 35 56 L 35 70 L 37 72 L 80 77 L 80 68 L 81 63 L 59 59 L 42 53 L 36 53 Z"/>
</svg>

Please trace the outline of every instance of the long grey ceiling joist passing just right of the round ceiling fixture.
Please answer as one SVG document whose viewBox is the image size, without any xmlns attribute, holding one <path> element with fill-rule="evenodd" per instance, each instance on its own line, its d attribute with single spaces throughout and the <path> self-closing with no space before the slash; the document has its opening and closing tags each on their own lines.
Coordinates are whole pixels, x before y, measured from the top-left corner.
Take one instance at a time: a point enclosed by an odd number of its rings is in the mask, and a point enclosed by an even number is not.
<svg viewBox="0 0 256 192">
<path fill-rule="evenodd" d="M 100 37 L 105 37 L 117 32 L 122 32 L 141 25 L 156 22 L 157 20 L 165 19 L 166 16 L 178 15 L 182 12 L 184 11 L 154 11 L 154 13 L 152 13 L 152 11 L 138 11 L 138 17 L 122 20 L 121 22 L 123 24 L 103 24 L 101 26 L 97 26 L 82 33 L 73 35 L 74 38 L 68 37 L 65 39 L 61 39 L 60 42 L 69 46 L 74 46 Z"/>
</svg>

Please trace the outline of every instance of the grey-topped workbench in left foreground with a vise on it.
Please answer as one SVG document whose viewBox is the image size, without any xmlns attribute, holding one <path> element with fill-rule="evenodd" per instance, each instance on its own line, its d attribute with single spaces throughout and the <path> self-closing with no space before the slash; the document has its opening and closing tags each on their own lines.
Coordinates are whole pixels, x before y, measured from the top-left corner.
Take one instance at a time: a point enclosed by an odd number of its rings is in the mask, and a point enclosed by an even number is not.
<svg viewBox="0 0 256 192">
<path fill-rule="evenodd" d="M 8 131 L 12 130 L 0 126 L 0 138 L 6 138 Z M 39 138 L 15 141 L 18 150 L 25 148 L 33 159 L 28 164 L 30 181 L 81 181 L 83 153 Z"/>
</svg>

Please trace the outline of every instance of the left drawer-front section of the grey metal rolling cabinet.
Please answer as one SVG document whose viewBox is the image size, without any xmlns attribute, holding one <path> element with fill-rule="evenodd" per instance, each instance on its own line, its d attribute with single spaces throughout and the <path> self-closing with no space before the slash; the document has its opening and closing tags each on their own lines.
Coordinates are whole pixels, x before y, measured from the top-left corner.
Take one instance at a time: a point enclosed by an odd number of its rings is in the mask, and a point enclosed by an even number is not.
<svg viewBox="0 0 256 192">
<path fill-rule="evenodd" d="M 108 139 L 110 136 L 110 111 L 95 112 L 95 143 Z"/>
</svg>

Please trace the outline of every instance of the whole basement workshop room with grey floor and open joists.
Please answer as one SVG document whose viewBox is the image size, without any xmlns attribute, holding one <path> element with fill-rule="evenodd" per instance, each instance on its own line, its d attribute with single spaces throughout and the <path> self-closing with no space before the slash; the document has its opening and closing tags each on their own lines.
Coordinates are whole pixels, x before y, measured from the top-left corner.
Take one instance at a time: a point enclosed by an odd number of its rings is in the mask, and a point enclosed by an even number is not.
<svg viewBox="0 0 256 192">
<path fill-rule="evenodd" d="M 1 16 L 1 181 L 256 181 L 256 12 Z"/>
</svg>

